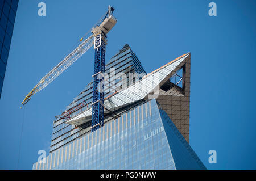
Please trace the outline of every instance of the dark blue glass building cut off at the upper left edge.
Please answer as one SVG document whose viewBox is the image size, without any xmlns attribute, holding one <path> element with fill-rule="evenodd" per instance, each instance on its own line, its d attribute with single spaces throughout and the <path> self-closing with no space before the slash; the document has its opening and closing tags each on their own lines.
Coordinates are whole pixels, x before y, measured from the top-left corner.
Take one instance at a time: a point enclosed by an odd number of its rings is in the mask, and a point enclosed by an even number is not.
<svg viewBox="0 0 256 181">
<path fill-rule="evenodd" d="M 18 2 L 18 0 L 0 1 L 0 98 Z"/>
</svg>

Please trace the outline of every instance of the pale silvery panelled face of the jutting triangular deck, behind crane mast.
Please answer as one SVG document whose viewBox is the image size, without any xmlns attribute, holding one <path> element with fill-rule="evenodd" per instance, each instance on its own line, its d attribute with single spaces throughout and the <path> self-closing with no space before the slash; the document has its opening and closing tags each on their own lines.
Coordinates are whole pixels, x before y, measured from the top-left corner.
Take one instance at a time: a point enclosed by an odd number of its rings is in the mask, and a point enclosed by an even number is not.
<svg viewBox="0 0 256 181">
<path fill-rule="evenodd" d="M 161 82 L 164 82 L 165 79 L 170 78 L 171 75 L 177 71 L 176 69 L 183 66 L 187 57 L 189 57 L 188 53 L 176 58 L 174 61 L 169 62 L 161 68 L 152 71 L 152 73 L 144 76 L 140 81 L 135 82 L 126 89 L 117 91 L 114 94 L 106 97 L 104 100 L 106 112 L 108 112 L 107 110 L 113 112 L 138 100 L 154 99 L 154 95 L 151 95 L 151 92 L 154 91 Z M 89 108 L 79 115 L 72 117 L 72 119 L 69 119 L 66 123 L 79 126 L 87 121 L 90 121 L 91 117 L 92 108 Z"/>
</svg>

